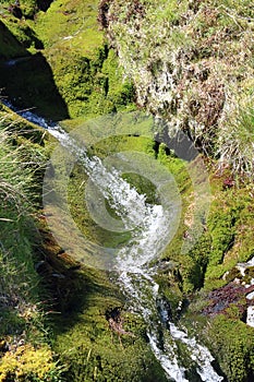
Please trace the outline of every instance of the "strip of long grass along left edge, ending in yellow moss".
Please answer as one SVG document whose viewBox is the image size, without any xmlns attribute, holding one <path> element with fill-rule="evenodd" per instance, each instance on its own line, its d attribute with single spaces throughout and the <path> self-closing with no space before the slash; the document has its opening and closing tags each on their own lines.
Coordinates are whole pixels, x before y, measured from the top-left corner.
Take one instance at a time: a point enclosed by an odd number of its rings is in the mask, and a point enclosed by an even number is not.
<svg viewBox="0 0 254 382">
<path fill-rule="evenodd" d="M 32 214 L 39 203 L 46 140 L 13 115 L 1 111 L 0 118 L 0 380 L 61 381 L 33 255 L 38 234 Z"/>
</svg>

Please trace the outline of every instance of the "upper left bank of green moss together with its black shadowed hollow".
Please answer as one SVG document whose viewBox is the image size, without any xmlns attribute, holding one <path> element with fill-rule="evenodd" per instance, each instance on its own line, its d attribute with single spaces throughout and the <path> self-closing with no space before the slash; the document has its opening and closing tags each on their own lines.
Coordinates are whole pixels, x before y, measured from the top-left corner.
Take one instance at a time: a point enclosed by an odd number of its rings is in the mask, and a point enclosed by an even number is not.
<svg viewBox="0 0 254 382">
<path fill-rule="evenodd" d="M 28 15 L 24 0 L 22 17 L 10 4 L 0 8 L 0 86 L 16 106 L 53 120 L 134 108 L 133 85 L 99 31 L 97 1 L 53 1 L 46 12 L 34 1 Z"/>
</svg>

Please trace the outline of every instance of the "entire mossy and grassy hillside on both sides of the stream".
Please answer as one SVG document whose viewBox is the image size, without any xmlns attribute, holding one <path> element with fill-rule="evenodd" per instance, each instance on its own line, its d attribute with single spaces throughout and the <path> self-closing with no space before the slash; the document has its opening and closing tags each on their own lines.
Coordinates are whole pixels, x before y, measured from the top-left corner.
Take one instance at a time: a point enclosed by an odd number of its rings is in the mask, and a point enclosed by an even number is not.
<svg viewBox="0 0 254 382">
<path fill-rule="evenodd" d="M 251 382 L 252 2 L 1 0 L 0 19 L 3 102 L 60 121 L 76 136 L 84 127 L 89 157 L 120 165 L 125 153 L 134 164 L 142 158 L 140 172 L 121 171 L 149 205 L 160 201 L 149 166 L 173 178 L 181 211 L 173 237 L 150 265 L 156 309 L 162 317 L 168 307 L 170 320 L 210 350 L 223 381 Z M 89 121 L 97 126 L 94 136 Z M 52 136 L 1 106 L 0 381 L 166 381 L 150 347 L 152 319 L 132 307 L 117 272 L 87 266 L 78 236 L 69 232 L 66 250 L 49 228 L 43 186 L 56 155 L 64 163 Z M 111 232 L 89 215 L 88 178 L 75 163 L 68 179 L 78 235 L 113 250 L 129 248 L 129 234 Z M 118 220 L 110 199 L 105 204 Z M 164 324 L 158 351 L 165 351 Z M 176 344 L 189 381 L 201 381 L 190 348 Z"/>
</svg>

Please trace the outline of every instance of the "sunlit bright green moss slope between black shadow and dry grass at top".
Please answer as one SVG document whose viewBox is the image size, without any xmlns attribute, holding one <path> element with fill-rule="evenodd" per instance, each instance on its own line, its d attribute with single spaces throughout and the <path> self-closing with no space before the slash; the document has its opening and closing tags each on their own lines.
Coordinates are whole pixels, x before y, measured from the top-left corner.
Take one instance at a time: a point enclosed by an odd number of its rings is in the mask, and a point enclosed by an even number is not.
<svg viewBox="0 0 254 382">
<path fill-rule="evenodd" d="M 134 107 L 133 86 L 122 80 L 96 17 L 96 1 L 73 0 L 55 1 L 47 14 L 36 20 L 35 29 L 46 46 L 45 55 L 71 117 L 109 114 L 129 104 Z"/>
</svg>

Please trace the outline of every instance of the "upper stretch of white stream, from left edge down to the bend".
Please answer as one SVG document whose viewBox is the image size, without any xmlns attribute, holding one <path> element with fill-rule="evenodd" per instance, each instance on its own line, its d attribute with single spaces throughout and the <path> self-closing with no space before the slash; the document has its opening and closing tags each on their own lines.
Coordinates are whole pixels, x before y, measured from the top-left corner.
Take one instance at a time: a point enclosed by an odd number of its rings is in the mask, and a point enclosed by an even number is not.
<svg viewBox="0 0 254 382">
<path fill-rule="evenodd" d="M 5 103 L 5 105 L 13 109 L 11 104 Z M 97 156 L 89 158 L 84 144 L 70 136 L 60 126 L 49 123 L 29 110 L 19 114 L 46 129 L 84 166 L 93 183 L 121 217 L 125 229 L 132 231 L 132 239 L 128 243 L 129 251 L 125 251 L 125 248 L 120 250 L 121 260 L 118 262 L 118 268 L 121 268 L 124 258 L 125 266 L 129 264 L 129 271 L 136 272 L 137 265 L 148 263 L 155 258 L 156 252 L 161 252 L 170 230 L 170 213 L 162 205 L 146 203 L 146 195 L 138 194 L 135 188 L 122 179 L 116 168 L 108 170 Z M 146 251 L 143 251 L 143 248 L 146 248 Z"/>
</svg>

